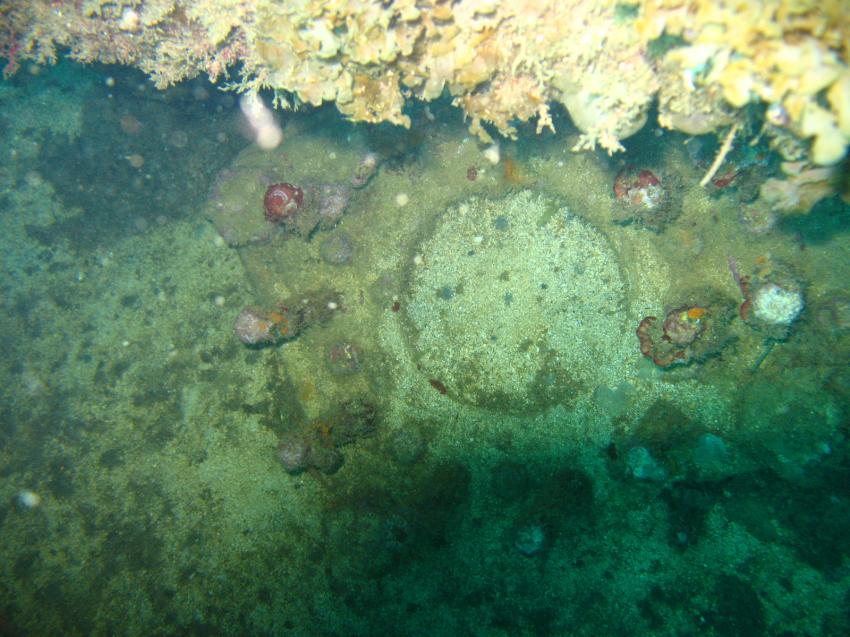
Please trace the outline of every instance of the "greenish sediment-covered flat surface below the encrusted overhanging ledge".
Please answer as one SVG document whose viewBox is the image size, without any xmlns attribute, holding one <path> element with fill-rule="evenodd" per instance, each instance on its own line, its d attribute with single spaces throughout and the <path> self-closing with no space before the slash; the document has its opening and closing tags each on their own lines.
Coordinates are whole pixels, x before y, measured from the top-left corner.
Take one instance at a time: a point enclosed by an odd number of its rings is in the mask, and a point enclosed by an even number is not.
<svg viewBox="0 0 850 637">
<path fill-rule="evenodd" d="M 840 188 L 405 113 L 0 85 L 0 634 L 847 634 Z"/>
</svg>

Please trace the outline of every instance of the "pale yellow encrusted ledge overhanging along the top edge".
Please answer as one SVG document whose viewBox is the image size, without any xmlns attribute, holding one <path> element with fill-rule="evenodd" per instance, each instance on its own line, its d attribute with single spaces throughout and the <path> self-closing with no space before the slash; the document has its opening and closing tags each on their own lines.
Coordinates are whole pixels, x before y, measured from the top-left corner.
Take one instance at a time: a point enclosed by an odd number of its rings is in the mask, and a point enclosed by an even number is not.
<svg viewBox="0 0 850 637">
<path fill-rule="evenodd" d="M 34 0 L 0 9 L 0 55 L 6 74 L 67 54 L 138 67 L 158 87 L 203 73 L 271 89 L 280 106 L 334 102 L 402 126 L 412 100 L 447 93 L 485 142 L 517 122 L 552 128 L 562 106 L 582 132 L 575 149 L 609 153 L 657 104 L 663 127 L 731 140 L 756 121 L 786 161 L 829 166 L 850 143 L 843 4 Z"/>
</svg>

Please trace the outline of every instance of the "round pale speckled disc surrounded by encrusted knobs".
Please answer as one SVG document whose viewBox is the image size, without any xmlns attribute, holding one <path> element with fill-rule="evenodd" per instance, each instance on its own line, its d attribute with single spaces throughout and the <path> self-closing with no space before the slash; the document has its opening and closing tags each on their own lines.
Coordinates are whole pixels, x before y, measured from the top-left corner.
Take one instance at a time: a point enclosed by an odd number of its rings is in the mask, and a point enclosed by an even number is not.
<svg viewBox="0 0 850 637">
<path fill-rule="evenodd" d="M 624 286 L 605 237 L 530 191 L 449 209 L 405 304 L 420 368 L 455 400 L 515 413 L 566 404 L 618 366 Z"/>
</svg>

